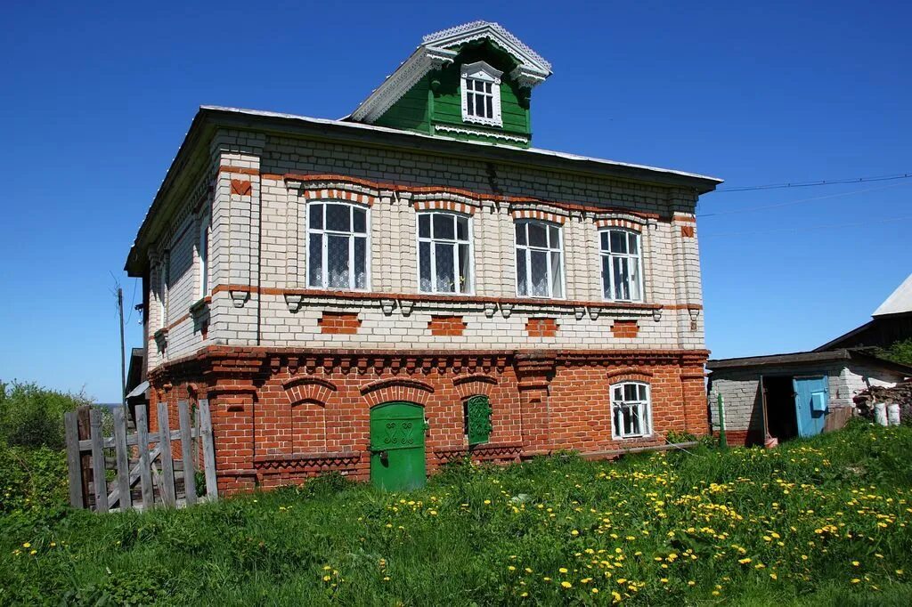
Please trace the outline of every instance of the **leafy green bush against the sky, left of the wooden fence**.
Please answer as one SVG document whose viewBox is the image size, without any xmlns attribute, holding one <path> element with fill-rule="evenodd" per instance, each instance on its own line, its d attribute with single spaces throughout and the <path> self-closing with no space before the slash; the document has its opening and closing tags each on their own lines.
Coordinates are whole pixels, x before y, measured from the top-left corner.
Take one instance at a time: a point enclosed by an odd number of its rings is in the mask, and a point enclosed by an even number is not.
<svg viewBox="0 0 912 607">
<path fill-rule="evenodd" d="M 0 382 L 0 442 L 30 448 L 64 448 L 63 414 L 91 402 L 81 392 L 68 394 L 36 384 Z"/>
</svg>

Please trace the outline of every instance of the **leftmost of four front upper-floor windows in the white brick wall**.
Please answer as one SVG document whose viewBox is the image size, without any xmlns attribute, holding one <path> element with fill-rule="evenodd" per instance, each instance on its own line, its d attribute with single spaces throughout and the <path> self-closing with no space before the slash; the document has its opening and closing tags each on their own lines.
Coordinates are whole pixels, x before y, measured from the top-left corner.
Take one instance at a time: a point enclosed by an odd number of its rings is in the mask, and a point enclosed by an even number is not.
<svg viewBox="0 0 912 607">
<path fill-rule="evenodd" d="M 368 288 L 368 211 L 352 204 L 307 205 L 307 284 Z"/>
</svg>

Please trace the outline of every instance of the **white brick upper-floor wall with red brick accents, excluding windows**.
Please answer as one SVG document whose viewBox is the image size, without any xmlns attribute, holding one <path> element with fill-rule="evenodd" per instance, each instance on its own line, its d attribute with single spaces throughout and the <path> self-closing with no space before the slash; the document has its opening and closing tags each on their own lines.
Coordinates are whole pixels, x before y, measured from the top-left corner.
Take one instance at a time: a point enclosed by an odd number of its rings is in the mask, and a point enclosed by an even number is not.
<svg viewBox="0 0 912 607">
<path fill-rule="evenodd" d="M 221 170 L 220 170 L 221 168 Z M 375 202 L 369 209 L 370 292 L 414 302 L 411 314 L 397 307 L 385 313 L 376 300 L 345 300 L 306 294 L 293 309 L 285 294 L 306 289 L 306 184 L 296 175 L 332 175 L 368 180 Z M 232 193 L 232 180 L 249 180 L 250 193 Z M 336 181 L 334 179 L 333 181 Z M 504 197 L 554 201 L 590 208 L 551 208 L 563 218 L 566 300 L 515 303 L 513 314 L 486 314 L 479 301 L 446 304 L 422 302 L 418 285 L 417 211 L 414 190 L 439 187 L 467 190 L 472 204 L 474 296 L 516 300 L 514 219 Z M 211 193 L 207 193 L 210 192 Z M 175 217 L 167 235 L 154 247 L 171 264 L 165 296 L 167 318 L 157 314 L 160 297 L 157 266 L 150 276 L 150 367 L 192 354 L 205 343 L 301 347 L 414 349 L 701 349 L 703 341 L 700 261 L 693 226 L 696 194 L 682 189 L 631 181 L 568 175 L 553 170 L 482 160 L 444 158 L 353 145 L 285 139 L 263 133 L 222 130 L 212 140 L 211 173 Z M 547 210 L 546 203 L 522 208 Z M 598 214 L 636 220 L 641 233 L 644 302 L 660 304 L 660 317 L 650 310 L 612 310 L 604 306 L 598 224 L 592 207 L 616 213 Z M 207 338 L 201 319 L 190 307 L 199 289 L 197 241 L 203 209 L 212 211 Z M 241 286 L 250 293 L 230 291 Z M 331 295 L 331 293 L 327 293 Z M 592 309 L 586 304 L 596 304 Z M 581 307 L 582 305 L 582 307 Z M 685 309 L 687 306 L 692 311 Z M 593 310 L 599 310 L 596 314 Z M 321 334 L 317 319 L 326 311 L 359 314 L 358 334 Z M 583 310 L 582 318 L 577 318 Z M 490 311 L 489 311 L 490 312 Z M 462 315 L 461 337 L 430 334 L 431 314 Z M 554 337 L 530 338 L 530 317 L 557 319 Z M 616 338 L 615 319 L 635 319 L 636 338 Z M 169 328 L 162 355 L 154 334 Z"/>
</svg>

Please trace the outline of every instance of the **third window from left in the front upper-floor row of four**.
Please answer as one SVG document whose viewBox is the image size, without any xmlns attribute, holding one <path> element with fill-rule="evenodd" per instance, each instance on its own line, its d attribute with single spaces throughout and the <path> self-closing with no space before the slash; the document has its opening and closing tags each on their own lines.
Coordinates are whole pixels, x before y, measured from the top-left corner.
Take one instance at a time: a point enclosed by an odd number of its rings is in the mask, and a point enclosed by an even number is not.
<svg viewBox="0 0 912 607">
<path fill-rule="evenodd" d="M 516 221 L 516 293 L 564 297 L 561 229 L 545 221 Z"/>
</svg>

